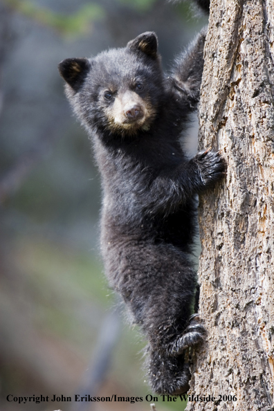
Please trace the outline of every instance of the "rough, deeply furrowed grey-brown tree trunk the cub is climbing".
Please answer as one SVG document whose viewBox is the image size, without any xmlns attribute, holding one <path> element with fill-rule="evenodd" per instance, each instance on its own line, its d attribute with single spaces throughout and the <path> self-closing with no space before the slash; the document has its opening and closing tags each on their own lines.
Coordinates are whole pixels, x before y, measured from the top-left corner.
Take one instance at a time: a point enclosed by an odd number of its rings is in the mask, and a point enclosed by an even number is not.
<svg viewBox="0 0 274 411">
<path fill-rule="evenodd" d="M 222 401 L 190 401 L 188 411 L 274 410 L 273 8 L 273 0 L 211 3 L 199 141 L 220 149 L 228 170 L 200 198 L 208 336 L 189 394 Z"/>
</svg>

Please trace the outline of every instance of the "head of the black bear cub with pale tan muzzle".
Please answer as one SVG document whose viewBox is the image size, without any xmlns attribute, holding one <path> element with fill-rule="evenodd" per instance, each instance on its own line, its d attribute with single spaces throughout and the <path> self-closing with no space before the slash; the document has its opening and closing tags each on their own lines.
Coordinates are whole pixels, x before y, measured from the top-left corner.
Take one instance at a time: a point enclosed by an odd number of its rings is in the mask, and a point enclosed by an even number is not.
<svg viewBox="0 0 274 411">
<path fill-rule="evenodd" d="M 156 34 L 146 32 L 125 48 L 59 64 L 66 95 L 88 131 L 132 136 L 149 130 L 163 97 L 157 48 Z"/>
</svg>

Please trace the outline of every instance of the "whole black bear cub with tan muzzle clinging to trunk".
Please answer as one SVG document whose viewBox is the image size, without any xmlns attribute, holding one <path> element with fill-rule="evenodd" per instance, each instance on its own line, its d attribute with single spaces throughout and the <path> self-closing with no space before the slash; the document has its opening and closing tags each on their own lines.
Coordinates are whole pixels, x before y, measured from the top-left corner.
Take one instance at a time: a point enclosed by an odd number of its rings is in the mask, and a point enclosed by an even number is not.
<svg viewBox="0 0 274 411">
<path fill-rule="evenodd" d="M 199 317 L 190 317 L 197 288 L 193 196 L 224 172 L 218 153 L 189 160 L 179 142 L 199 101 L 204 39 L 201 33 L 170 75 L 152 32 L 59 66 L 102 175 L 105 272 L 148 340 L 149 383 L 161 394 L 188 390 L 185 354 L 203 340 Z"/>
</svg>

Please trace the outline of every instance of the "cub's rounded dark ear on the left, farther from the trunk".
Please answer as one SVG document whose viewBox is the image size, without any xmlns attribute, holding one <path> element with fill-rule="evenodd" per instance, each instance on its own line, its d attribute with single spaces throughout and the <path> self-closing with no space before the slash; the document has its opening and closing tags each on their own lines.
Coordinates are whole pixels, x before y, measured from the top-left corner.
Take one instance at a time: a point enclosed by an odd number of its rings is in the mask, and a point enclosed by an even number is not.
<svg viewBox="0 0 274 411">
<path fill-rule="evenodd" d="M 82 59 L 66 59 L 58 64 L 60 75 L 75 90 L 80 87 L 91 68 L 91 64 L 85 57 Z"/>
</svg>

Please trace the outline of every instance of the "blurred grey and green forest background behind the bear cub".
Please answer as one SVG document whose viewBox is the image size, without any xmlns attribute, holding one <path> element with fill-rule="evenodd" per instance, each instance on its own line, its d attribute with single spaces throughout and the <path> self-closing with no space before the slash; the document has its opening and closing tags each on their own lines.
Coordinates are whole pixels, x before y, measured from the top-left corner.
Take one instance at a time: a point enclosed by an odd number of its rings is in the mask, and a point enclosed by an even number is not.
<svg viewBox="0 0 274 411">
<path fill-rule="evenodd" d="M 6 396 L 149 394 L 144 342 L 102 273 L 98 172 L 57 64 L 155 30 L 168 69 L 206 24 L 198 14 L 165 0 L 0 0 L 1 411 L 149 411 L 146 402 L 77 408 Z"/>
</svg>

